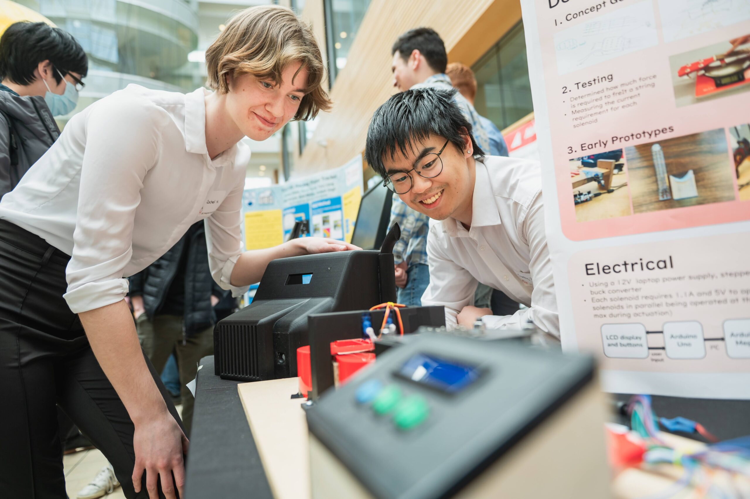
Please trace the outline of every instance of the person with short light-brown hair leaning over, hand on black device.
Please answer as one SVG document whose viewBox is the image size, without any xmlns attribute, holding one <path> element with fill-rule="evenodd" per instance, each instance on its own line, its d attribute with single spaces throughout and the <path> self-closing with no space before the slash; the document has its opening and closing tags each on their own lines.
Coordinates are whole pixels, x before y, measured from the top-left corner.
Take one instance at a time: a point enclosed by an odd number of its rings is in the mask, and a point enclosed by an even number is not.
<svg viewBox="0 0 750 499">
<path fill-rule="evenodd" d="M 250 151 L 332 106 L 307 24 L 248 8 L 205 52 L 208 85 L 130 85 L 77 113 L 0 202 L 0 497 L 65 497 L 55 401 L 113 465 L 125 497 L 183 497 L 188 441 L 124 300 L 198 221 L 208 269 L 239 296 L 270 260 L 356 249 L 302 238 L 242 251 Z"/>
</svg>

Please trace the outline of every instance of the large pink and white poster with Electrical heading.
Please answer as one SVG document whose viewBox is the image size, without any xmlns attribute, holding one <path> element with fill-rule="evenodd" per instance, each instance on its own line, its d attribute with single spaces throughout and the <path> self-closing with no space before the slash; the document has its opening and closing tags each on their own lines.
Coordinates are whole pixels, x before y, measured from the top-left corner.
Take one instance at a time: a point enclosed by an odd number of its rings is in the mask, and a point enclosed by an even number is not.
<svg viewBox="0 0 750 499">
<path fill-rule="evenodd" d="M 521 8 L 563 347 L 750 398 L 750 0 Z"/>
</svg>

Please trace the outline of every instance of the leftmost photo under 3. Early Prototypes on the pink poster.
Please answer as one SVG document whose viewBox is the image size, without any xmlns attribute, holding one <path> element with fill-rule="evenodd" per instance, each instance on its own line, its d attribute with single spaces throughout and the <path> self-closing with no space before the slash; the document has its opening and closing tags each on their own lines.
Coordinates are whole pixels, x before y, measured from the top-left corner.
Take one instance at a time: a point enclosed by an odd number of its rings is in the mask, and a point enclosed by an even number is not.
<svg viewBox="0 0 750 499">
<path fill-rule="evenodd" d="M 575 221 L 632 215 L 622 149 L 574 158 L 568 164 Z"/>
</svg>

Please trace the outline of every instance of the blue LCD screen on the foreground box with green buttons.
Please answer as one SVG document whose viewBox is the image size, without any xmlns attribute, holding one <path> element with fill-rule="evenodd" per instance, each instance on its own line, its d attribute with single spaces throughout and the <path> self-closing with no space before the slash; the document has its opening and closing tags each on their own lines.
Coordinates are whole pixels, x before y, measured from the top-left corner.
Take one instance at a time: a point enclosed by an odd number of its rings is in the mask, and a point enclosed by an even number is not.
<svg viewBox="0 0 750 499">
<path fill-rule="evenodd" d="M 476 365 L 443 359 L 428 353 L 417 353 L 399 369 L 398 374 L 441 392 L 458 393 L 481 376 Z"/>
</svg>

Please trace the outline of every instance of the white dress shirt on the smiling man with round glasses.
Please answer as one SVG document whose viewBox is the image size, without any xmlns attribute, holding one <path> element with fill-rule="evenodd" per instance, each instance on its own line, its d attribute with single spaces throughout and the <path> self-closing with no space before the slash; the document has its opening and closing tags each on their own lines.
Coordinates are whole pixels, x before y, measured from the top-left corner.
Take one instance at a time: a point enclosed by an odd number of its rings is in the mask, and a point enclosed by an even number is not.
<svg viewBox="0 0 750 499">
<path fill-rule="evenodd" d="M 422 305 L 444 305 L 446 323 L 472 305 L 477 283 L 529 308 L 483 317 L 488 328 L 534 323 L 559 336 L 552 264 L 544 233 L 541 173 L 536 161 L 487 156 L 476 162 L 472 223 L 430 221 L 430 285 Z"/>
</svg>

